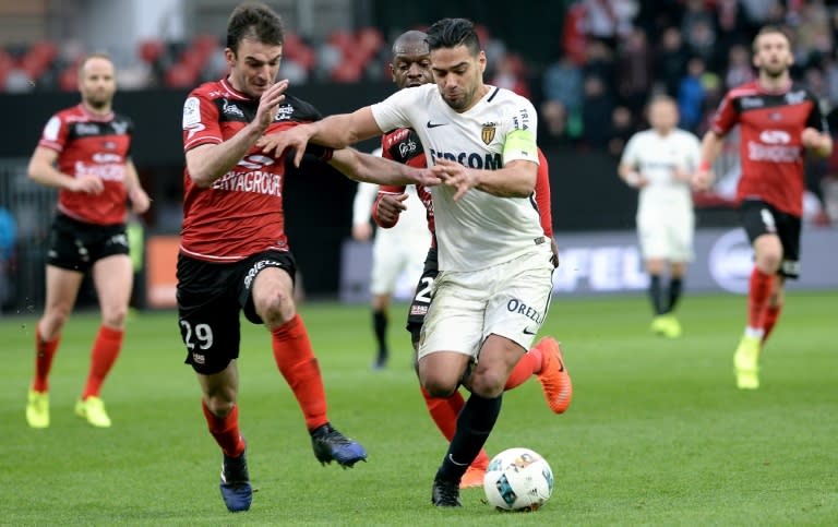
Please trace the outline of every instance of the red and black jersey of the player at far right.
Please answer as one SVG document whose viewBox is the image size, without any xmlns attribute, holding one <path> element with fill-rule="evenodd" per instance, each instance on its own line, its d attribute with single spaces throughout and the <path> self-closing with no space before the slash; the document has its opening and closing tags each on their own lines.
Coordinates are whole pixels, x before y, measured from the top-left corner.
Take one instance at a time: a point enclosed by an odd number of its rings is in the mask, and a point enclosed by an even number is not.
<svg viewBox="0 0 838 527">
<path fill-rule="evenodd" d="M 802 216 L 805 157 L 801 134 L 807 127 L 827 131 L 817 99 L 797 83 L 767 92 L 757 81 L 728 92 L 711 130 L 725 135 L 740 125 L 742 176 L 737 201 L 755 199 Z"/>
</svg>

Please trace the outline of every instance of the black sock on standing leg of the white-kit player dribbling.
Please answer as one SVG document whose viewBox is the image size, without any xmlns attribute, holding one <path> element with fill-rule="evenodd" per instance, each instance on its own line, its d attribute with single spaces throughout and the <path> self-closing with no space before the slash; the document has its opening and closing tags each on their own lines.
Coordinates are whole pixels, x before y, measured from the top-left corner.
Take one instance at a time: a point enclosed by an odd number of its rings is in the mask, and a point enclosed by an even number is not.
<svg viewBox="0 0 838 527">
<path fill-rule="evenodd" d="M 438 478 L 447 481 L 459 481 L 463 478 L 498 421 L 502 398 L 503 395 L 487 399 L 471 394 L 466 405 L 459 410 L 457 430 L 451 440 L 448 452 L 445 453 L 445 459 L 442 460 L 442 466 L 436 472 Z"/>
</svg>

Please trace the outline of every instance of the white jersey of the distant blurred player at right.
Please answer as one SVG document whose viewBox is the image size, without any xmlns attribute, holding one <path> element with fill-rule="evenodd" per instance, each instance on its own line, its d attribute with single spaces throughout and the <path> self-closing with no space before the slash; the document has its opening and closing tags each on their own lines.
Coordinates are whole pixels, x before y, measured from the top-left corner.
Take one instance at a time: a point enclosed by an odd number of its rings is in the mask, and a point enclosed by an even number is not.
<svg viewBox="0 0 838 527">
<path fill-rule="evenodd" d="M 620 164 L 636 168 L 648 180 L 639 192 L 637 216 L 654 214 L 654 211 L 692 211 L 690 183 L 677 179 L 673 170 L 694 172 L 701 155 L 698 137 L 684 130 L 674 129 L 667 135 L 655 130 L 634 134 L 625 145 Z"/>
</svg>

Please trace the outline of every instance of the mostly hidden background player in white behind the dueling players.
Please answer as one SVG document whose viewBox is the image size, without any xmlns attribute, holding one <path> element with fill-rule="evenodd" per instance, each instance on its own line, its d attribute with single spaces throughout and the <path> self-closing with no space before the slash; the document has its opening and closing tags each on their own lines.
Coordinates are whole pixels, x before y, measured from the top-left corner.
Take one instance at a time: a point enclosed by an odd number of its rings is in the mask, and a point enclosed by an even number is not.
<svg viewBox="0 0 838 527">
<path fill-rule="evenodd" d="M 381 148 L 376 148 L 381 155 Z M 379 185 L 358 183 L 352 203 L 352 238 L 367 241 L 372 237 L 372 204 L 378 196 Z M 416 195 L 416 187 L 406 188 L 405 209 L 398 223 L 390 229 L 375 230 L 372 244 L 372 273 L 370 292 L 372 295 L 372 327 L 378 344 L 378 354 L 372 363 L 374 369 L 382 369 L 387 363 L 387 322 L 390 301 L 396 291 L 399 277 L 405 275 L 405 283 L 411 287 L 422 275 L 424 256 L 431 242 L 424 205 Z"/>
</svg>

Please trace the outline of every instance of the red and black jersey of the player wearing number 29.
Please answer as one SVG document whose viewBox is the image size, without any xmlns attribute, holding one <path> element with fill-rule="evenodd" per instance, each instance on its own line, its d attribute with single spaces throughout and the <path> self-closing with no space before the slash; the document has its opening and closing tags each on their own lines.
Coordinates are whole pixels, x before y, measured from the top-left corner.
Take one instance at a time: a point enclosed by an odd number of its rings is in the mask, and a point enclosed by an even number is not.
<svg viewBox="0 0 838 527">
<path fill-rule="evenodd" d="M 229 140 L 255 118 L 258 108 L 258 99 L 236 91 L 227 80 L 202 84 L 183 106 L 183 149 Z M 312 105 L 286 94 L 265 133 L 319 119 Z M 287 251 L 284 183 L 285 154 L 277 158 L 255 146 L 207 189 L 194 184 L 184 169 L 181 251 L 212 262 Z"/>
</svg>

